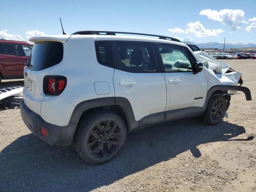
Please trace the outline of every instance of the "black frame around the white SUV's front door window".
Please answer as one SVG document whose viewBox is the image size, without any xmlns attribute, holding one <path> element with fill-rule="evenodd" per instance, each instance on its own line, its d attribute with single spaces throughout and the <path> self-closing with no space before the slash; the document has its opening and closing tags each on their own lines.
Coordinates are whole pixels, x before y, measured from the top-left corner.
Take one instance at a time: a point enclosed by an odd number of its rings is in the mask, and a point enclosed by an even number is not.
<svg viewBox="0 0 256 192">
<path fill-rule="evenodd" d="M 157 48 L 158 44 L 160 44 L 160 45 L 169 45 L 169 46 L 177 46 L 177 47 L 182 47 L 182 48 L 186 49 L 191 65 L 192 65 L 193 62 L 196 62 L 196 58 L 194 58 L 194 56 L 191 54 L 191 52 L 185 46 L 171 44 L 171 43 L 154 43 L 156 54 L 157 54 L 157 57 L 158 57 L 158 62 L 160 64 L 160 68 L 161 68 L 162 73 L 191 73 L 191 72 L 193 72 L 193 71 L 165 71 L 164 63 L 163 63 L 161 54 L 159 52 L 159 49 Z"/>
</svg>

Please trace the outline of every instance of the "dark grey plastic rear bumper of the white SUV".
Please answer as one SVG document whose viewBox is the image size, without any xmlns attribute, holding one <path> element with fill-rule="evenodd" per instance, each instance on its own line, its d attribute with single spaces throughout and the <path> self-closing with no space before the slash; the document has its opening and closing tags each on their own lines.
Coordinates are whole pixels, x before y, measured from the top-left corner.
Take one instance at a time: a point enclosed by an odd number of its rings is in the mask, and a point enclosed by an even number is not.
<svg viewBox="0 0 256 192">
<path fill-rule="evenodd" d="M 36 137 L 50 145 L 67 146 L 71 144 L 77 123 L 69 123 L 67 126 L 50 124 L 30 110 L 24 100 L 20 102 L 20 113 L 24 123 Z M 41 128 L 48 130 L 48 136 L 42 135 Z"/>
</svg>

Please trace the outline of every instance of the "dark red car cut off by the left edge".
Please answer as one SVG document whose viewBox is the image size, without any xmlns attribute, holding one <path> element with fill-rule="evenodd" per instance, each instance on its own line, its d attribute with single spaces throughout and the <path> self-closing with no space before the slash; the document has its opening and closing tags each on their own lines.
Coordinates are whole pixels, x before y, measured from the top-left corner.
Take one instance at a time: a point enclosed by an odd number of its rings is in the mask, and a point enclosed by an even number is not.
<svg viewBox="0 0 256 192">
<path fill-rule="evenodd" d="M 2 79 L 24 78 L 24 62 L 33 44 L 24 41 L 0 40 L 0 82 Z"/>
</svg>

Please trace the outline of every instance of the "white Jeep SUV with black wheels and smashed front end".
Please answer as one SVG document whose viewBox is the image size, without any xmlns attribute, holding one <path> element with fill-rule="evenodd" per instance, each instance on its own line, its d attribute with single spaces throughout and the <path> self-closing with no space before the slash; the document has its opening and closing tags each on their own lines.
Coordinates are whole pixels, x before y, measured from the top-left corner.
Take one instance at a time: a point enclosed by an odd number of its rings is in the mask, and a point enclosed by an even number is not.
<svg viewBox="0 0 256 192">
<path fill-rule="evenodd" d="M 237 86 L 241 73 L 210 69 L 175 38 L 116 34 L 154 36 L 79 31 L 30 39 L 20 108 L 34 135 L 58 146 L 74 140 L 84 160 L 99 164 L 118 153 L 127 132 L 192 116 L 216 125 L 228 90 L 251 100 Z"/>
</svg>

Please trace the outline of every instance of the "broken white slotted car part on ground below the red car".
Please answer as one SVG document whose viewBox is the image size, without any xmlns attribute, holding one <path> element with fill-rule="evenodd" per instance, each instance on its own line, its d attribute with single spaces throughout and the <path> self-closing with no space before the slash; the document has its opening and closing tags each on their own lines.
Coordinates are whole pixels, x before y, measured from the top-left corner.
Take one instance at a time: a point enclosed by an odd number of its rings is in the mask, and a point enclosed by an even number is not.
<svg viewBox="0 0 256 192">
<path fill-rule="evenodd" d="M 23 86 L 0 89 L 0 109 L 20 108 L 23 97 L 19 93 L 22 91 Z"/>
</svg>

